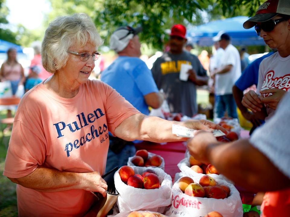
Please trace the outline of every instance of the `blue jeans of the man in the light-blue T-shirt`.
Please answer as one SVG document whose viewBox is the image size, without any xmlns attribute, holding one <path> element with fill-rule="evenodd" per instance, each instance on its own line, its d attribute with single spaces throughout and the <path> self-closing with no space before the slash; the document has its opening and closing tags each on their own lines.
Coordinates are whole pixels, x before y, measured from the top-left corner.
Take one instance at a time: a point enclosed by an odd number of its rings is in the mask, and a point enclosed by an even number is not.
<svg viewBox="0 0 290 217">
<path fill-rule="evenodd" d="M 134 156 L 135 153 L 136 148 L 134 145 L 125 145 L 121 152 L 118 154 L 115 154 L 109 148 L 105 173 L 111 171 L 115 167 L 120 168 L 121 166 L 127 165 L 128 158 Z"/>
</svg>

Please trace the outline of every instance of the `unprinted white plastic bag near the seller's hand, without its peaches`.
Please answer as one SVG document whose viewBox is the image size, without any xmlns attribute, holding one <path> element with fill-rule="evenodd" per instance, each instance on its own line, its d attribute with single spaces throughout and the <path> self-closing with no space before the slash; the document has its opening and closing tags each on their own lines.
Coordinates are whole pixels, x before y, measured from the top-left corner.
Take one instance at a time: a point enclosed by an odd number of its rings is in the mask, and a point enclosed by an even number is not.
<svg viewBox="0 0 290 217">
<path fill-rule="evenodd" d="M 135 174 L 142 174 L 145 170 L 151 169 L 159 177 L 158 189 L 140 189 L 128 186 L 122 182 L 119 170 L 114 174 L 115 187 L 118 193 L 117 205 L 120 212 L 137 210 L 148 210 L 163 213 L 171 204 L 172 178 L 160 168 L 131 166 Z"/>
</svg>

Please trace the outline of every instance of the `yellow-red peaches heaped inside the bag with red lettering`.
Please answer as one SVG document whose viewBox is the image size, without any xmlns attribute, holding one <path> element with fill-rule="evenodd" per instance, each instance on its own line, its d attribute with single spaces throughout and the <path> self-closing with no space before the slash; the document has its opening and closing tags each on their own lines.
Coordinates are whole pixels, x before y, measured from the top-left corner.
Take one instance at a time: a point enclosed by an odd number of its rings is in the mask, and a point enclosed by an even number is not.
<svg viewBox="0 0 290 217">
<path fill-rule="evenodd" d="M 188 196 L 224 199 L 230 195 L 230 188 L 219 185 L 209 175 L 200 178 L 199 183 L 194 183 L 190 177 L 182 177 L 178 182 L 180 190 Z"/>
</svg>

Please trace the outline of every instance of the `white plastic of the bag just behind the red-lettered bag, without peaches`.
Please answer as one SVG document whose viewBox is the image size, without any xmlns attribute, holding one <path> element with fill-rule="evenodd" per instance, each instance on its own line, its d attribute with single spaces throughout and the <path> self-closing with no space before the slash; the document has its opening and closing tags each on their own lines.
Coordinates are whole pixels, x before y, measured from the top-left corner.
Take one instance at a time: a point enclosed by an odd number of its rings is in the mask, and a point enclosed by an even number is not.
<svg viewBox="0 0 290 217">
<path fill-rule="evenodd" d="M 205 174 L 202 173 L 197 173 L 195 171 L 193 171 L 190 168 L 190 163 L 189 163 L 189 157 L 184 158 L 183 160 L 181 160 L 178 164 L 177 164 L 178 168 L 180 169 L 180 171 L 182 172 L 182 176 L 188 176 L 193 178 L 197 178 L 198 180 L 204 176 Z M 232 181 L 230 181 L 227 177 L 225 177 L 224 175 L 218 175 L 218 174 L 208 174 L 209 176 L 213 177 L 214 179 L 221 179 L 221 180 L 225 180 L 229 183 L 232 183 Z"/>
</svg>

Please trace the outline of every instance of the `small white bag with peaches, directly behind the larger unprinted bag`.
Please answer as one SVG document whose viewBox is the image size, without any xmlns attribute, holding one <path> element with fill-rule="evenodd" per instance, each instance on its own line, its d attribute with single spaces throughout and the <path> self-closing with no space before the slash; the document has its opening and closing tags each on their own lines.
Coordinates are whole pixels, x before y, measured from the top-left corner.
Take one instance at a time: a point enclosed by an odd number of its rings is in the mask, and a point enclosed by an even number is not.
<svg viewBox="0 0 290 217">
<path fill-rule="evenodd" d="M 137 167 L 158 167 L 164 170 L 164 158 L 160 155 L 148 152 L 146 149 L 141 149 L 136 152 L 133 157 L 128 158 L 128 166 Z"/>
</svg>

